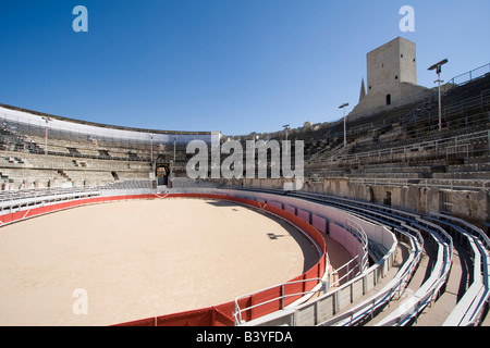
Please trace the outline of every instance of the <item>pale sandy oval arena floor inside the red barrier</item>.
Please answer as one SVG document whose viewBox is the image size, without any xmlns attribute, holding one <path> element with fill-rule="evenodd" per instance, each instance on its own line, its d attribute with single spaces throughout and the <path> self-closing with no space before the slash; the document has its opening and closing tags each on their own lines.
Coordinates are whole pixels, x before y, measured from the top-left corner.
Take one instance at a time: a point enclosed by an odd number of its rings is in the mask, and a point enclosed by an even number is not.
<svg viewBox="0 0 490 348">
<path fill-rule="evenodd" d="M 348 256 L 330 258 L 341 264 Z M 230 202 L 71 209 L 0 228 L 0 325 L 111 325 L 205 308 L 283 283 L 317 260 L 291 225 Z M 87 314 L 74 313 L 81 303 Z"/>
</svg>

